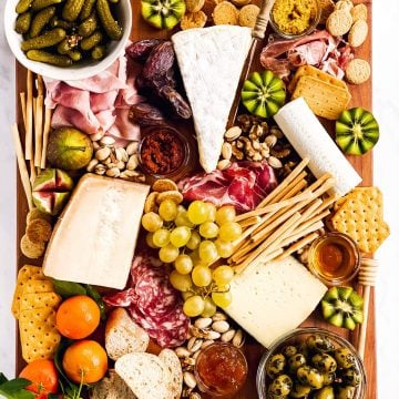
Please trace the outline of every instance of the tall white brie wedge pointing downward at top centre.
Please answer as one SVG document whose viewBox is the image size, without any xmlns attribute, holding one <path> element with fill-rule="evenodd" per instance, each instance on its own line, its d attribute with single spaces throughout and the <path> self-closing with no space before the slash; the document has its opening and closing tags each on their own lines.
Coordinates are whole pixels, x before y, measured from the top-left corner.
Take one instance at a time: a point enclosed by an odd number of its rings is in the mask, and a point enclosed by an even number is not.
<svg viewBox="0 0 399 399">
<path fill-rule="evenodd" d="M 188 29 L 172 37 L 184 88 L 193 110 L 200 162 L 217 166 L 252 30 L 233 25 Z"/>
</svg>

